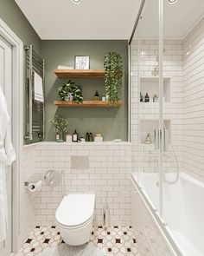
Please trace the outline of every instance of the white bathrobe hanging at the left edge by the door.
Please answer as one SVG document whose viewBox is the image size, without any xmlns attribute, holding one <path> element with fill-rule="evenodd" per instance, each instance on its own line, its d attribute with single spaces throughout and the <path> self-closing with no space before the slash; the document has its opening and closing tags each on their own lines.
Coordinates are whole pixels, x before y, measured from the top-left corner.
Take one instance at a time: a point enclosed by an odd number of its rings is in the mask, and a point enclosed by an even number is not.
<svg viewBox="0 0 204 256">
<path fill-rule="evenodd" d="M 10 115 L 0 85 L 0 242 L 6 239 L 8 230 L 8 205 L 6 195 L 6 167 L 16 160 L 10 135 Z"/>
</svg>

